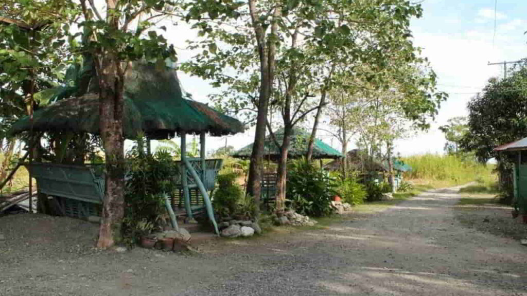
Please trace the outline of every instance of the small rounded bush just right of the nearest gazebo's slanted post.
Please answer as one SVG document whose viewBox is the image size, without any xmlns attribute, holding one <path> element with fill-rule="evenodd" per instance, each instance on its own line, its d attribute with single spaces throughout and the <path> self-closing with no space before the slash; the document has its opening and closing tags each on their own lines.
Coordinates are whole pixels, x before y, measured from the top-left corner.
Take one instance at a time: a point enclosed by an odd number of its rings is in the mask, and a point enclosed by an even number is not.
<svg viewBox="0 0 527 296">
<path fill-rule="evenodd" d="M 212 204 L 220 217 L 234 216 L 238 203 L 243 197 L 243 191 L 236 184 L 236 173 L 223 173 L 218 175 L 218 188 L 214 191 Z"/>
</svg>

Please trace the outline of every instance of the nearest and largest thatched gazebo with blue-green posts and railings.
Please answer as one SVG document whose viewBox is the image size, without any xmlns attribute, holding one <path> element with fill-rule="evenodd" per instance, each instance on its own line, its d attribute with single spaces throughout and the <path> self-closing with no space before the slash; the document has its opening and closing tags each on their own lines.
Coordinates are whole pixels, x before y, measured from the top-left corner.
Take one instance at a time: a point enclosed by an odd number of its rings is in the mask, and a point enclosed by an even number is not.
<svg viewBox="0 0 527 296">
<path fill-rule="evenodd" d="M 75 88 L 66 88 L 73 96 L 35 111 L 33 123 L 24 117 L 12 126 L 11 133 L 33 130 L 99 134 L 97 83 L 89 61 L 84 63 L 77 77 Z M 61 95 L 57 94 L 58 97 Z M 243 125 L 206 104 L 187 100 L 173 68 L 159 68 L 149 63 L 130 64 L 126 71 L 123 125 L 126 139 L 136 139 L 139 133 L 149 140 L 170 139 L 175 134 L 181 137 L 180 175 L 174 176 L 174 182 L 181 189 L 186 214 L 193 219 L 193 210 L 197 206 L 193 208 L 191 205 L 190 191 L 199 192 L 209 219 L 219 234 L 208 191 L 214 187 L 221 160 L 206 160 L 205 137 L 206 133 L 212 136 L 236 134 L 243 131 Z M 187 157 L 187 134 L 200 135 L 199 158 Z M 54 163 L 26 166 L 37 180 L 39 193 L 60 197 L 64 214 L 93 215 L 92 205 L 102 204 L 104 176 L 93 167 Z M 177 228 L 177 224 L 174 227 Z"/>
</svg>

